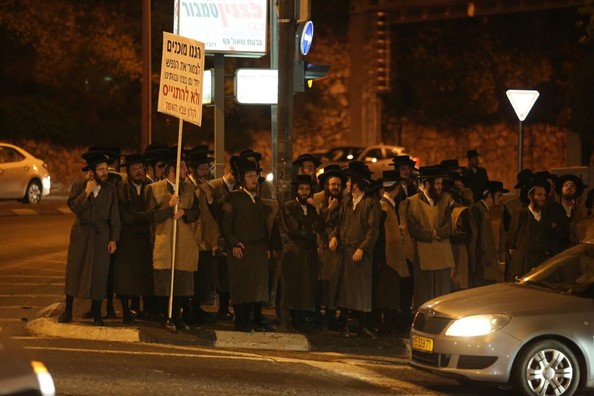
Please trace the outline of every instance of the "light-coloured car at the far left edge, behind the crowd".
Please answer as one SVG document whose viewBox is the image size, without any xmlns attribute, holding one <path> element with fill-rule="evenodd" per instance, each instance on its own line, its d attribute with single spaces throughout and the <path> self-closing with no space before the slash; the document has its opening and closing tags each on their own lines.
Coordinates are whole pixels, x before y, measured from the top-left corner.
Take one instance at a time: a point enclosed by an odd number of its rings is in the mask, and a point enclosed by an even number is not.
<svg viewBox="0 0 594 396">
<path fill-rule="evenodd" d="M 37 204 L 48 195 L 48 165 L 20 147 L 0 143 L 0 199 Z"/>
</svg>

